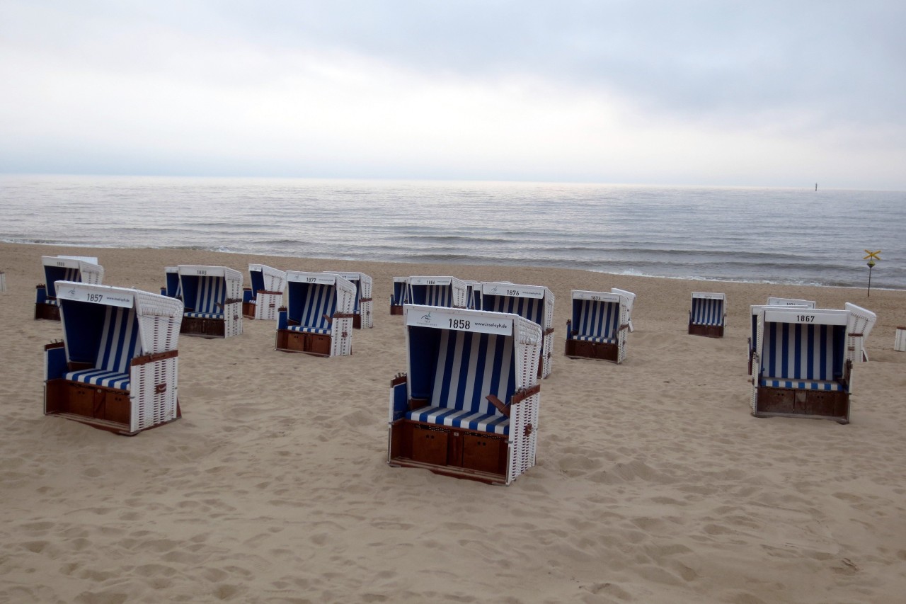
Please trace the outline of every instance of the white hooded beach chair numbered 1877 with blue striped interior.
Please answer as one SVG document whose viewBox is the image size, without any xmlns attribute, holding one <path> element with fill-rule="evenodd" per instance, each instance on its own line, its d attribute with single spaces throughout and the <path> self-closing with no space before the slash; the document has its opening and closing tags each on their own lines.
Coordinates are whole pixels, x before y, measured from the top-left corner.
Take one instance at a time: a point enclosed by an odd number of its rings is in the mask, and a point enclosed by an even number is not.
<svg viewBox="0 0 906 604">
<path fill-rule="evenodd" d="M 354 304 L 355 286 L 339 275 L 287 271 L 275 348 L 314 356 L 352 355 Z"/>
</svg>

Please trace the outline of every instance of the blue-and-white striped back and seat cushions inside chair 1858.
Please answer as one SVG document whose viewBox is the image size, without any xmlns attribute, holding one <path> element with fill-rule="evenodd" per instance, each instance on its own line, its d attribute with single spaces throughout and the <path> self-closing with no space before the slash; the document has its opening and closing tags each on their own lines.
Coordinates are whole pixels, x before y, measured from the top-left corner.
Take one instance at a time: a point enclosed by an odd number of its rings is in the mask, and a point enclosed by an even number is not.
<svg viewBox="0 0 906 604">
<path fill-rule="evenodd" d="M 513 338 L 444 330 L 431 380 L 429 404 L 406 414 L 410 420 L 508 434 L 509 418 L 487 400 L 503 402 L 516 392 Z M 421 397 L 413 392 L 414 397 Z"/>
</svg>

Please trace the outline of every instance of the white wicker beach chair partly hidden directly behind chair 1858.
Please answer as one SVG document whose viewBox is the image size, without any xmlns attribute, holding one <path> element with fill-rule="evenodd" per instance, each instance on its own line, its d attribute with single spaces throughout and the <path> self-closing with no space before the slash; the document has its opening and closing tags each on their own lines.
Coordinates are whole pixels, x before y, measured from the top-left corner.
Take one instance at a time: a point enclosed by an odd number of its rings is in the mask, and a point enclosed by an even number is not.
<svg viewBox="0 0 906 604">
<path fill-rule="evenodd" d="M 538 376 L 551 375 L 554 350 L 554 293 L 544 286 L 486 282 L 479 289 L 482 310 L 513 313 L 541 326 L 544 338 Z"/>
</svg>

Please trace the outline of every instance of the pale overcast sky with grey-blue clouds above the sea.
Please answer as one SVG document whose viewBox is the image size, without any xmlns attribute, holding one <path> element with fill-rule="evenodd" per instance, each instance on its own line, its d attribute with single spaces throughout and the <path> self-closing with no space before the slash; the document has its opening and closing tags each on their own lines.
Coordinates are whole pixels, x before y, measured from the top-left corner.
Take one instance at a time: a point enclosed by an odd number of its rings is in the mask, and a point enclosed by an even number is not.
<svg viewBox="0 0 906 604">
<path fill-rule="evenodd" d="M 0 171 L 906 190 L 906 2 L 0 0 Z"/>
</svg>

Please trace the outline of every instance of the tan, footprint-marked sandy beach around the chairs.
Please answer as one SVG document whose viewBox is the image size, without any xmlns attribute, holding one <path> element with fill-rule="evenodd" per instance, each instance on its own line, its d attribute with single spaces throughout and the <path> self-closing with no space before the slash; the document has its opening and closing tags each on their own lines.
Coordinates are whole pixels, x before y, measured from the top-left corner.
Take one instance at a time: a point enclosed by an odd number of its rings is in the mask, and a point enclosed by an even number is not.
<svg viewBox="0 0 906 604">
<path fill-rule="evenodd" d="M 104 283 L 164 267 L 358 270 L 373 329 L 352 356 L 274 350 L 275 323 L 181 337 L 183 417 L 134 437 L 43 415 L 42 255 Z M 899 603 L 906 599 L 906 291 L 633 278 L 557 268 L 0 244 L 0 601 Z M 534 468 L 509 487 L 386 462 L 405 370 L 391 278 L 554 291 L 554 365 Z M 622 365 L 563 356 L 571 289 L 637 294 Z M 688 336 L 689 294 L 726 292 L 727 335 Z M 878 323 L 852 422 L 750 414 L 749 305 L 853 302 Z"/>
</svg>

